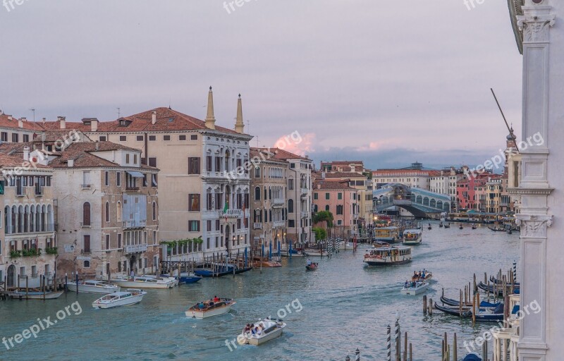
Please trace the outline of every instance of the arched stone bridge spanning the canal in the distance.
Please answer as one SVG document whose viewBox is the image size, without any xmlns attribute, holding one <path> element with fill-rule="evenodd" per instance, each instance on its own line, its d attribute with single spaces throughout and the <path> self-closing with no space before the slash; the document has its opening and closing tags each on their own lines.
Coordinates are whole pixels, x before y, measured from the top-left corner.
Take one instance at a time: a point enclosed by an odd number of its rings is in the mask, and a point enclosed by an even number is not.
<svg viewBox="0 0 564 361">
<path fill-rule="evenodd" d="M 400 183 L 389 183 L 372 192 L 372 209 L 375 213 L 390 207 L 401 207 L 416 217 L 450 212 L 450 197 Z"/>
</svg>

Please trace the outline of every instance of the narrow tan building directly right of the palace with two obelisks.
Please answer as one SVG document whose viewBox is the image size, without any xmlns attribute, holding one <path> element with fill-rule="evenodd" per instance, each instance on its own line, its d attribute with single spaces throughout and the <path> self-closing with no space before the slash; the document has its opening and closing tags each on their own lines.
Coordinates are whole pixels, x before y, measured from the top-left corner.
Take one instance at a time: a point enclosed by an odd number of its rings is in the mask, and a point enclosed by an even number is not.
<svg viewBox="0 0 564 361">
<path fill-rule="evenodd" d="M 268 149 L 251 148 L 251 244 L 286 249 L 288 231 L 288 167 Z"/>
</svg>

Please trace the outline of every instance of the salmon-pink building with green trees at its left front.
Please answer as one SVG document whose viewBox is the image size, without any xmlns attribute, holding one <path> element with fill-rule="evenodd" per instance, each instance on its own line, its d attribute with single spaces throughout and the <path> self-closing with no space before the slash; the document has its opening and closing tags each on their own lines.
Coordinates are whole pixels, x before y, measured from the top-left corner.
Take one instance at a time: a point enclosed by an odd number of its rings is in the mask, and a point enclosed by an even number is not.
<svg viewBox="0 0 564 361">
<path fill-rule="evenodd" d="M 348 239 L 358 233 L 360 192 L 350 187 L 349 181 L 329 181 L 326 178 L 314 181 L 313 212 L 329 211 L 333 214 L 334 233 L 331 235 Z"/>
</svg>

